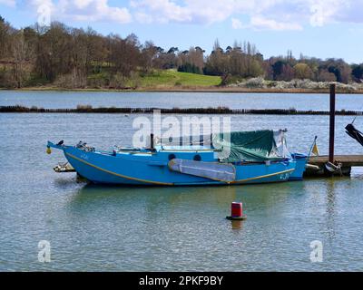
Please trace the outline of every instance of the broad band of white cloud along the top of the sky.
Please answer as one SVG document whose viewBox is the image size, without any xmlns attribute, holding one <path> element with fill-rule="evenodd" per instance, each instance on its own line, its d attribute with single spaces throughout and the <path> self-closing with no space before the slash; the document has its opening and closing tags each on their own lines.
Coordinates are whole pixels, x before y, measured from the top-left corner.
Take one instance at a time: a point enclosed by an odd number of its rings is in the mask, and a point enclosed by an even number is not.
<svg viewBox="0 0 363 290">
<path fill-rule="evenodd" d="M 15 5 L 0 0 L 0 4 Z M 105 21 L 126 24 L 216 24 L 231 21 L 233 29 L 299 30 L 331 23 L 363 24 L 363 0 L 27 0 L 50 7 L 61 21 Z M 53 19 L 53 18 L 52 18 Z M 243 23 L 240 19 L 244 19 Z"/>
</svg>

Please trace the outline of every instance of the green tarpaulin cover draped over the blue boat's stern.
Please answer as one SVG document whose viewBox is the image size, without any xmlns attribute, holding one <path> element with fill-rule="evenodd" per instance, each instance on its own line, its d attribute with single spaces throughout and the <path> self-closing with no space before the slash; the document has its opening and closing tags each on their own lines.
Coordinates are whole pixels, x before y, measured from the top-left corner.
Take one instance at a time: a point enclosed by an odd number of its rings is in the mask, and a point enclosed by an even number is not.
<svg viewBox="0 0 363 290">
<path fill-rule="evenodd" d="M 222 150 L 223 162 L 281 160 L 285 147 L 283 131 L 235 131 L 212 136 L 213 147 Z M 279 143 L 277 145 L 277 142 Z"/>
</svg>

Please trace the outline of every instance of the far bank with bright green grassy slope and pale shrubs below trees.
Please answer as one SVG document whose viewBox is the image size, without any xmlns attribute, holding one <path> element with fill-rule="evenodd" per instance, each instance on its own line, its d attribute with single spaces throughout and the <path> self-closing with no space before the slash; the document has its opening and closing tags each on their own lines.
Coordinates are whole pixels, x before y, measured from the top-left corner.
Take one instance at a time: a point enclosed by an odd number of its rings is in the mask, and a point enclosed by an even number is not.
<svg viewBox="0 0 363 290">
<path fill-rule="evenodd" d="M 103 77 L 103 76 L 98 76 Z M 102 80 L 105 81 L 105 80 Z M 261 93 L 328 93 L 329 82 L 292 80 L 291 82 L 265 81 L 262 78 L 245 80 L 221 86 L 221 77 L 196 73 L 181 73 L 175 70 L 161 70 L 153 73 L 123 79 L 121 88 L 109 86 L 89 86 L 68 88 L 50 83 L 30 86 L 20 91 L 75 91 L 75 92 L 261 92 Z M 363 85 L 358 83 L 337 83 L 338 93 L 363 94 Z"/>
</svg>

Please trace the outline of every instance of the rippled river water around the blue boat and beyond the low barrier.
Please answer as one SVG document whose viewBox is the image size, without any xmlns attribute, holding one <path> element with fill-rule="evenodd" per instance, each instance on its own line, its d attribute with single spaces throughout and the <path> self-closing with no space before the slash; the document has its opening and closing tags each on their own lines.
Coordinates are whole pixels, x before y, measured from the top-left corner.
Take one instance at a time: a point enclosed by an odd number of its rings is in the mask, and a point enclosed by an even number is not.
<svg viewBox="0 0 363 290">
<path fill-rule="evenodd" d="M 64 99 L 59 99 L 59 94 Z M 13 102 L 8 100 L 10 95 L 14 96 Z M 41 105 L 47 100 L 42 106 L 131 106 L 132 102 L 141 104 L 139 98 L 143 98 L 147 106 L 174 106 L 162 102 L 164 94 L 120 95 L 116 98 L 116 94 L 105 93 L 97 100 L 93 93 L 90 97 L 82 93 L 81 98 L 78 93 L 51 92 L 48 100 L 45 92 L 0 92 L 0 105 Z M 126 100 L 127 96 L 132 101 Z M 191 96 L 184 102 L 176 98 L 175 106 L 200 106 L 195 103 L 205 100 L 200 99 L 205 98 L 201 94 Z M 284 104 L 299 109 L 303 105 L 320 108 L 319 102 L 311 100 L 324 102 L 320 109 L 328 106 L 323 96 L 307 95 L 310 101 L 300 102 L 303 97 L 258 95 L 255 102 L 254 95 L 228 93 L 213 95 L 208 105 L 220 105 L 221 99 L 228 104 L 240 98 L 250 107 L 263 104 L 280 108 Z M 283 101 L 285 98 L 289 103 Z M 362 96 L 345 98 L 348 102 L 339 101 L 339 105 L 346 109 L 358 110 L 358 104 L 363 103 Z M 100 187 L 77 183 L 74 173 L 54 173 L 53 166 L 64 157 L 59 151 L 46 155 L 46 140 L 64 139 L 70 144 L 86 140 L 102 149 L 114 144 L 131 145 L 134 117 L 0 114 L 0 270 L 363 269 L 361 169 L 354 169 L 351 178 L 219 188 Z M 288 128 L 289 147 L 302 152 L 309 149 L 317 134 L 319 150 L 327 152 L 328 117 L 231 118 L 235 130 Z M 344 133 L 349 121 L 350 117 L 337 118 L 336 151 L 361 154 L 362 147 Z M 358 117 L 356 124 L 363 129 L 363 117 Z M 233 200 L 243 201 L 247 220 L 231 223 L 225 219 Z M 51 243 L 50 263 L 38 262 L 40 240 Z M 323 243 L 322 263 L 309 260 L 313 240 Z"/>
</svg>

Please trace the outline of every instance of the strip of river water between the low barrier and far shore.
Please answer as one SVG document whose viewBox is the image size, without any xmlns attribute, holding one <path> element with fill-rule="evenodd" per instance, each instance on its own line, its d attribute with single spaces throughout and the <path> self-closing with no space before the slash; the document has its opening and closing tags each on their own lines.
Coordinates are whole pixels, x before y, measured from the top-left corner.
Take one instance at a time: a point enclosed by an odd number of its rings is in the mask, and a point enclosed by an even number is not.
<svg viewBox="0 0 363 290">
<path fill-rule="evenodd" d="M 304 93 L 225 93 L 225 92 L 19 92 L 0 91 L 0 106 L 38 106 L 75 108 L 206 108 L 226 106 L 231 109 L 329 110 L 329 95 Z M 337 110 L 362 110 L 363 95 L 338 94 Z"/>
</svg>

